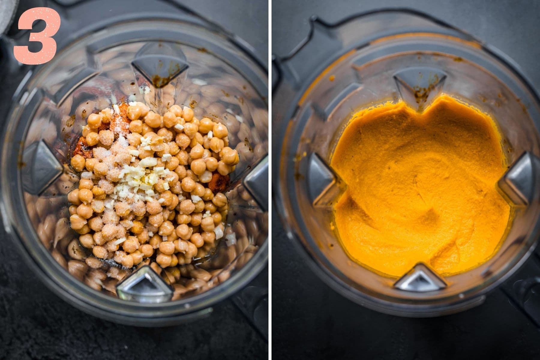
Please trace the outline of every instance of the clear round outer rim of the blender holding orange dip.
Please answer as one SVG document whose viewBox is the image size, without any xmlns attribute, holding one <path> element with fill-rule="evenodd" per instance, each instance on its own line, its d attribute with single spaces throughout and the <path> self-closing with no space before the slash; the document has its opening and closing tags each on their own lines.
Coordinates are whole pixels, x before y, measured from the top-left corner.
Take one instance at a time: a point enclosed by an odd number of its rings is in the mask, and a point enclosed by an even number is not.
<svg viewBox="0 0 540 360">
<path fill-rule="evenodd" d="M 444 21 L 441 21 L 440 19 L 434 18 L 424 12 L 417 11 L 417 10 L 411 10 L 406 8 L 387 8 L 387 9 L 381 9 L 381 10 L 373 10 L 368 12 L 362 12 L 357 13 L 355 15 L 351 15 L 346 17 L 345 19 L 342 19 L 341 21 L 338 21 L 336 23 L 327 23 L 325 21 L 322 21 L 316 16 L 312 16 L 309 19 L 310 29 L 309 34 L 306 38 L 304 38 L 299 45 L 297 45 L 288 55 L 284 57 L 278 57 L 276 55 L 273 55 L 272 57 L 272 65 L 273 69 L 275 69 L 275 72 L 278 74 L 278 80 L 273 84 L 272 86 L 272 94 L 275 99 L 276 93 L 279 93 L 278 88 L 284 81 L 284 78 L 282 76 L 284 64 L 294 58 L 294 56 L 299 53 L 303 47 L 306 46 L 306 44 L 312 39 L 313 33 L 315 31 L 315 23 L 318 23 L 322 25 L 323 27 L 327 29 L 332 28 L 338 28 L 341 25 L 346 24 L 347 22 L 353 21 L 355 19 L 359 19 L 361 17 L 370 16 L 370 15 L 378 15 L 381 13 L 401 13 L 404 15 L 411 15 L 411 16 L 417 16 L 422 19 L 427 19 L 428 21 L 433 22 L 436 25 L 440 25 L 442 27 L 441 32 L 435 32 L 435 31 L 427 31 L 428 33 L 432 33 L 434 35 L 450 35 L 451 37 L 454 37 L 459 40 L 465 40 L 467 42 L 474 43 L 478 45 L 479 49 L 483 52 L 486 52 L 490 57 L 497 60 L 499 63 L 501 63 L 505 69 L 509 70 L 514 76 L 517 77 L 519 81 L 525 86 L 525 88 L 529 91 L 529 93 L 532 95 L 534 100 L 536 101 L 536 104 L 540 105 L 540 97 L 538 95 L 538 92 L 534 88 L 534 86 L 531 85 L 529 79 L 525 76 L 525 74 L 519 69 L 519 66 L 512 60 L 509 56 L 505 55 L 502 51 L 496 49 L 496 47 L 491 46 L 489 44 L 485 44 L 481 42 L 481 40 L 478 40 L 474 36 L 471 36 L 469 33 L 464 32 L 460 29 L 455 28 L 453 25 L 447 24 Z M 443 31 L 444 30 L 444 31 Z M 339 52 L 335 52 L 332 57 L 324 60 L 323 62 L 318 63 L 316 66 L 316 69 L 311 72 L 311 74 L 307 77 L 307 79 L 302 79 L 301 86 L 297 86 L 294 88 L 294 98 L 292 101 L 287 104 L 288 108 L 286 108 L 285 116 L 283 119 L 287 119 L 287 122 L 290 121 L 290 119 L 295 116 L 296 112 L 298 111 L 300 105 L 299 101 L 302 98 L 302 96 L 308 91 L 309 86 L 316 81 L 319 74 L 321 74 L 325 69 L 328 67 L 331 67 L 335 62 L 338 61 L 342 56 L 345 56 L 347 52 L 350 52 L 352 50 L 358 50 L 362 47 L 365 47 L 369 45 L 370 42 L 372 42 L 374 39 L 384 39 L 392 35 L 401 35 L 401 34 L 411 34 L 414 32 L 410 32 L 406 30 L 398 31 L 397 29 L 394 30 L 394 32 L 389 33 L 385 32 L 384 34 L 375 33 L 372 34 L 372 37 L 370 38 L 362 38 L 358 39 L 361 41 L 354 42 L 353 45 L 348 45 L 346 47 L 343 47 L 343 49 L 340 49 Z M 294 79 L 299 80 L 299 79 Z M 297 83 L 298 85 L 298 83 Z M 275 103 L 274 103 L 275 104 Z M 274 105 L 273 104 L 273 105 Z M 284 121 L 284 120 L 281 120 Z M 291 123 L 289 123 L 290 125 Z M 298 235 L 296 232 L 300 231 L 300 227 L 296 223 L 296 214 L 292 212 L 292 210 L 289 208 L 289 206 L 285 204 L 285 202 L 289 202 L 289 196 L 287 196 L 287 190 L 284 188 L 284 180 L 281 179 L 282 173 L 284 172 L 284 169 L 282 167 L 285 167 L 286 165 L 282 162 L 282 157 L 287 152 L 288 148 L 287 145 L 284 142 L 285 133 L 287 132 L 285 129 L 285 126 L 281 124 L 280 128 L 280 137 L 278 137 L 278 142 L 276 142 L 276 145 L 273 147 L 274 156 L 276 159 L 280 159 L 280 165 L 276 167 L 276 170 L 273 174 L 273 182 L 272 187 L 273 191 L 275 192 L 276 196 L 274 196 L 273 201 L 274 205 L 278 209 L 278 215 L 281 220 L 282 225 L 284 226 L 285 232 L 287 234 L 287 237 L 289 240 L 291 240 L 294 243 L 294 246 L 298 250 L 298 252 L 303 256 L 304 259 L 309 259 L 308 266 L 314 270 L 314 272 L 320 277 L 323 282 L 325 282 L 328 286 L 333 288 L 334 290 L 338 291 L 341 295 L 349 298 L 349 300 L 352 300 L 354 302 L 360 303 L 361 305 L 365 305 L 368 308 L 382 311 L 387 314 L 392 315 L 401 315 L 401 316 L 433 316 L 433 315 L 440 315 L 442 313 L 451 313 L 454 309 L 457 310 L 457 308 L 467 308 L 467 307 L 473 307 L 474 304 L 478 301 L 482 302 L 483 297 L 485 297 L 485 294 L 488 293 L 490 290 L 494 289 L 496 286 L 501 284 L 504 280 L 508 279 L 512 274 L 515 273 L 515 271 L 522 266 L 522 264 L 528 259 L 529 255 L 532 253 L 534 248 L 536 247 L 537 241 L 535 240 L 532 242 L 532 244 L 525 249 L 522 249 L 519 253 L 519 260 L 510 268 L 508 268 L 504 274 L 499 275 L 498 279 L 491 279 L 491 282 L 489 282 L 489 279 L 487 282 L 483 283 L 483 288 L 480 289 L 480 291 L 475 290 L 476 287 L 473 287 L 467 291 L 476 291 L 473 297 L 453 300 L 451 303 L 444 304 L 444 308 L 441 309 L 440 305 L 438 303 L 435 304 L 414 304 L 411 305 L 409 303 L 402 303 L 402 304 L 396 304 L 394 302 L 390 302 L 387 300 L 383 300 L 381 298 L 372 298 L 368 293 L 365 291 L 360 291 L 358 289 L 350 287 L 346 282 L 343 282 L 342 279 L 339 279 L 338 276 L 332 273 L 329 269 L 327 269 L 325 266 L 323 266 L 323 263 L 319 259 L 315 259 L 314 254 L 311 253 L 311 250 L 307 248 L 307 245 L 304 243 L 304 241 L 301 240 L 301 236 Z M 540 219 L 538 219 L 532 227 L 529 237 L 536 239 L 538 233 L 540 232 Z M 517 257 L 518 255 L 516 255 Z M 338 271 L 338 273 L 341 273 L 338 269 L 334 269 L 333 271 Z M 388 298 L 392 298 L 387 296 Z M 449 298 L 440 298 L 437 299 L 438 301 L 441 300 L 448 300 Z M 430 315 L 430 310 L 433 309 L 433 313 Z M 455 311 L 455 310 L 454 310 Z"/>
</svg>

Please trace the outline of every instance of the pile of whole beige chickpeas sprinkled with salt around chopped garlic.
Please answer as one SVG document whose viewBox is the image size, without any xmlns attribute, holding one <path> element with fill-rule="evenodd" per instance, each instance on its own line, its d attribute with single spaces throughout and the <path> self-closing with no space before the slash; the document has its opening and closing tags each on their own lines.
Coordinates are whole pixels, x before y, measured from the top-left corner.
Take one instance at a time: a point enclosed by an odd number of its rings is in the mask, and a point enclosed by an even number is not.
<svg viewBox="0 0 540 360">
<path fill-rule="evenodd" d="M 77 153 L 70 161 L 81 179 L 68 193 L 69 221 L 80 246 L 92 254 L 85 263 L 92 269 L 111 260 L 125 269 L 149 264 L 158 273 L 190 264 L 215 247 L 216 234 L 224 234 L 228 201 L 224 189 L 213 184 L 217 178 L 228 181 L 239 162 L 237 150 L 228 147 L 227 127 L 210 118 L 199 120 L 190 107 L 179 105 L 163 116 L 143 103 L 124 103 L 119 109 L 90 114 L 82 135 L 92 157 Z M 127 146 L 119 144 L 124 138 Z M 168 170 L 153 185 L 155 195 L 114 200 L 122 168 L 146 158 L 157 159 L 146 167 L 151 171 Z M 110 201 L 113 207 L 106 208 Z M 197 271 L 210 279 L 206 270 Z"/>
</svg>

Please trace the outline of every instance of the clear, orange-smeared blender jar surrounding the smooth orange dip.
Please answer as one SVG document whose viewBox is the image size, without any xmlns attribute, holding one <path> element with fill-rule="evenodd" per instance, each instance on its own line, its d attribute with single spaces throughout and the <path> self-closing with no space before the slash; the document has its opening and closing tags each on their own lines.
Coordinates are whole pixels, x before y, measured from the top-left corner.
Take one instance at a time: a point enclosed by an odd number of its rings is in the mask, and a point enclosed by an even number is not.
<svg viewBox="0 0 540 360">
<path fill-rule="evenodd" d="M 438 316 L 483 302 L 535 246 L 540 188 L 540 101 L 516 65 L 470 35 L 410 10 L 381 10 L 336 24 L 311 19 L 291 54 L 273 59 L 276 207 L 316 273 L 351 300 L 384 313 Z M 422 111 L 446 93 L 491 114 L 512 164 L 498 182 L 514 208 L 499 250 L 477 268 L 442 276 L 418 263 L 399 279 L 350 260 L 332 206 L 347 184 L 330 168 L 352 115 L 403 100 Z"/>
</svg>

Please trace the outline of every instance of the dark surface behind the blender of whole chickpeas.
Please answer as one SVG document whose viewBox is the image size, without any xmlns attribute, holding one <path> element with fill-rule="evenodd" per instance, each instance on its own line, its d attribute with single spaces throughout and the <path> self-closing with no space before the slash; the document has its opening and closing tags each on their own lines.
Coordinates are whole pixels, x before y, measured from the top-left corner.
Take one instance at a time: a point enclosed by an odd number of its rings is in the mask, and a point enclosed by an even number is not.
<svg viewBox="0 0 540 360">
<path fill-rule="evenodd" d="M 266 1 L 188 0 L 183 3 L 247 40 L 267 63 Z M 21 0 L 23 10 L 49 4 L 48 1 Z M 83 25 L 84 14 L 80 17 Z M 10 75 L 3 71 L 5 68 L 0 68 L 0 79 L 5 84 Z M 0 108 L 8 108 L 9 101 L 10 97 L 0 99 Z M 209 318 L 176 327 L 148 329 L 114 324 L 73 308 L 46 288 L 26 268 L 1 223 L 0 239 L 0 359 L 268 357 L 268 344 L 231 301 L 215 306 Z M 268 277 L 267 268 L 258 280 L 264 282 L 265 277 Z"/>
</svg>

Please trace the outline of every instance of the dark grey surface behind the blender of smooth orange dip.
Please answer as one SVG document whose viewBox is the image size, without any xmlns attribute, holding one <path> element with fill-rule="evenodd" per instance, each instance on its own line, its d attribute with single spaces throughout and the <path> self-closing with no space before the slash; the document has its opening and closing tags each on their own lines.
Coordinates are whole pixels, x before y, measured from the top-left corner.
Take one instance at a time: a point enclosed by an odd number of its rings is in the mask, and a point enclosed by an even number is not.
<svg viewBox="0 0 540 360">
<path fill-rule="evenodd" d="M 283 56 L 300 42 L 311 15 L 334 22 L 390 6 L 427 12 L 498 47 L 540 89 L 536 1 L 273 0 L 272 53 Z M 335 293 L 299 260 L 275 210 L 272 259 L 276 359 L 540 358 L 540 333 L 501 290 L 479 307 L 455 315 L 403 318 L 376 313 Z M 533 256 L 532 261 L 537 259 Z"/>
</svg>

